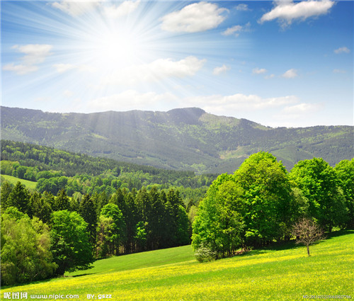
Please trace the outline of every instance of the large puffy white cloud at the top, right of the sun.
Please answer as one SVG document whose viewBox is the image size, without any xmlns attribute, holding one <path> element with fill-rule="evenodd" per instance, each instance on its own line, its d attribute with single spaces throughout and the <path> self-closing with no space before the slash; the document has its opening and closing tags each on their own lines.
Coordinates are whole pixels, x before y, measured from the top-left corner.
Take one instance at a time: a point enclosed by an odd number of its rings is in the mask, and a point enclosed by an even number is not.
<svg viewBox="0 0 354 301">
<path fill-rule="evenodd" d="M 216 4 L 199 2 L 190 4 L 173 11 L 161 18 L 161 29 L 173 33 L 198 33 L 200 31 L 216 28 L 225 16 L 222 13 L 228 11 L 219 8 Z"/>
</svg>

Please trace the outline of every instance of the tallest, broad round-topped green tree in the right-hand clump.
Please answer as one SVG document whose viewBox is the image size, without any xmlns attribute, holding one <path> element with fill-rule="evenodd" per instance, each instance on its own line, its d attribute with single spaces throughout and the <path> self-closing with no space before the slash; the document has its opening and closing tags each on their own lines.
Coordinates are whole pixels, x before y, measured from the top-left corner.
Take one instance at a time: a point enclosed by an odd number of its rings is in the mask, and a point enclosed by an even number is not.
<svg viewBox="0 0 354 301">
<path fill-rule="evenodd" d="M 292 226 L 290 212 L 297 210 L 282 163 L 272 154 L 258 152 L 235 171 L 234 181 L 243 191 L 239 213 L 246 244 L 259 246 L 281 239 Z"/>
</svg>

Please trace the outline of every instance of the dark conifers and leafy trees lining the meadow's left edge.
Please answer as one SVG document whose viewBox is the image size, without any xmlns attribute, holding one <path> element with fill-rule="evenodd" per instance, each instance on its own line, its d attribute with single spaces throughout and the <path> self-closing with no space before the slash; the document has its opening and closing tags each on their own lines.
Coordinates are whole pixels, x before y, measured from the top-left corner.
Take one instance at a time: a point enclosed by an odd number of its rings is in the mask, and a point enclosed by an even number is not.
<svg viewBox="0 0 354 301">
<path fill-rule="evenodd" d="M 89 268 L 94 259 L 190 243 L 178 191 L 118 188 L 69 198 L 1 183 L 1 283 Z"/>
</svg>

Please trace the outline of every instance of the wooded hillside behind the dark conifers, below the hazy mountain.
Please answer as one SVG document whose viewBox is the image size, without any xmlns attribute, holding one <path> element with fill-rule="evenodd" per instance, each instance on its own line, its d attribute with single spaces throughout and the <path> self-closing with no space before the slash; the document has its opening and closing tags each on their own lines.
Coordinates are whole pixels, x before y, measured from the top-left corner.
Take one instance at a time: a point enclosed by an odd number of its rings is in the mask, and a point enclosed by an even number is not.
<svg viewBox="0 0 354 301">
<path fill-rule="evenodd" d="M 67 195 L 105 192 L 118 188 L 139 190 L 178 188 L 186 200 L 198 205 L 216 175 L 195 175 L 193 171 L 169 171 L 152 166 L 139 166 L 74 154 L 50 147 L 1 140 L 1 174 L 37 182 L 36 190 L 57 195 L 62 189 Z"/>
</svg>

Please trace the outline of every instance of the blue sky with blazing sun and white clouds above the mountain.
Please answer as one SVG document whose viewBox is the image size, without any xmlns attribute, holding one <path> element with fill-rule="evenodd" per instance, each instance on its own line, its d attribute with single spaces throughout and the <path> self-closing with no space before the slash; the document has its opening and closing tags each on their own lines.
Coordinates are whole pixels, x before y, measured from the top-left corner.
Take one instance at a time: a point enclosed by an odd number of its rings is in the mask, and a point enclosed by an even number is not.
<svg viewBox="0 0 354 301">
<path fill-rule="evenodd" d="M 354 1 L 0 5 L 1 106 L 354 125 Z"/>
</svg>

